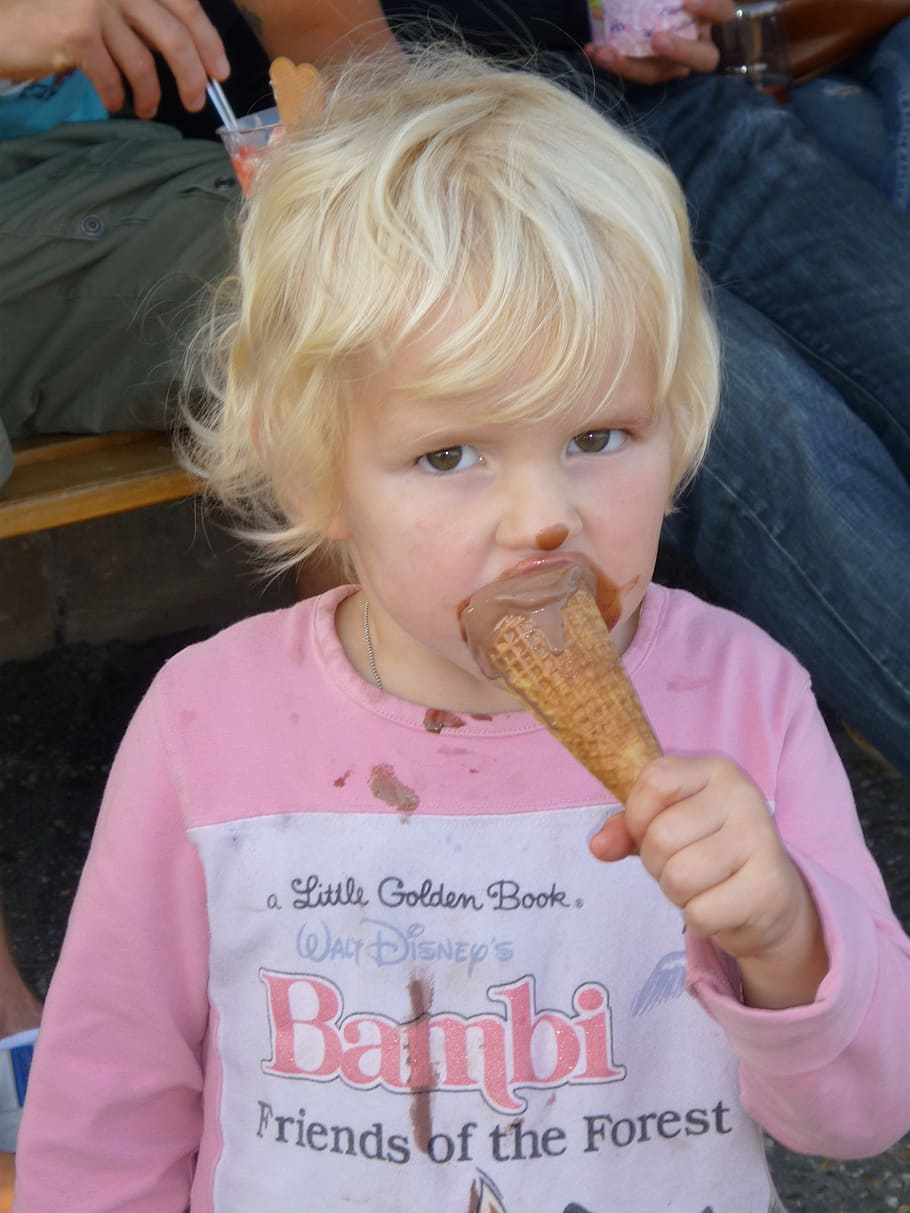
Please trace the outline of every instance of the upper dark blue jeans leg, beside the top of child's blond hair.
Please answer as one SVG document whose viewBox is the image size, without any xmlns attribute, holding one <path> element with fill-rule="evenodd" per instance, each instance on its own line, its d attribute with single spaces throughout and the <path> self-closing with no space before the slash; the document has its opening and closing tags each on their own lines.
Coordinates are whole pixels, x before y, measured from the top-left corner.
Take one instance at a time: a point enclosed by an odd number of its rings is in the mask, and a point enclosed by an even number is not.
<svg viewBox="0 0 910 1213">
<path fill-rule="evenodd" d="M 910 220 L 740 80 L 681 81 L 633 116 L 686 190 L 712 281 L 766 315 L 910 479 Z"/>
</svg>

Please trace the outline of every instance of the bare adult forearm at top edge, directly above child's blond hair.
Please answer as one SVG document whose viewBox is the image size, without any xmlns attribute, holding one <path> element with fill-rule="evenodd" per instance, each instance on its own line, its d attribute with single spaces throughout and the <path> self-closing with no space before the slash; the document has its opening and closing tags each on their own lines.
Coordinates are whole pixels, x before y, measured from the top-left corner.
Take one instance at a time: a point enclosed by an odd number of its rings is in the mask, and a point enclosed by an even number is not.
<svg viewBox="0 0 910 1213">
<path fill-rule="evenodd" d="M 239 0 L 238 7 L 269 58 L 324 64 L 364 51 L 399 50 L 379 0 Z"/>
</svg>

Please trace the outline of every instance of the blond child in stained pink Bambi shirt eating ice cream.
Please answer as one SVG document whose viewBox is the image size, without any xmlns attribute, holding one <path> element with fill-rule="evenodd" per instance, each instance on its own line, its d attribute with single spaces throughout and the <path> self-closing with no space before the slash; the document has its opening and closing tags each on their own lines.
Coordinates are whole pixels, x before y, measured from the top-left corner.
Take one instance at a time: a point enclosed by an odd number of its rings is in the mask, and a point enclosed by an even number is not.
<svg viewBox="0 0 910 1213">
<path fill-rule="evenodd" d="M 910 943 L 808 679 L 649 583 L 717 393 L 670 173 L 531 75 L 351 68 L 235 286 L 197 466 L 359 588 L 186 650 L 136 713 L 19 1213 L 768 1213 L 760 1126 L 888 1146 Z M 541 562 L 619 587 L 666 751 L 625 816 L 462 639 Z"/>
</svg>

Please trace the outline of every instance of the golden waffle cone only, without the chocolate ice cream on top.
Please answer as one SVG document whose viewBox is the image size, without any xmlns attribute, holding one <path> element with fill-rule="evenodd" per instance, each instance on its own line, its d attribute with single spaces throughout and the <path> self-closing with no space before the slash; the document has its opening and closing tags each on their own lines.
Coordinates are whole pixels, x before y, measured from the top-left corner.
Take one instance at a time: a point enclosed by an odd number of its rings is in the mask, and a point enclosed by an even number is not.
<svg viewBox="0 0 910 1213">
<path fill-rule="evenodd" d="M 562 608 L 563 644 L 527 615 L 499 620 L 487 656 L 508 689 L 622 804 L 660 746 L 597 603 L 581 586 Z"/>
</svg>

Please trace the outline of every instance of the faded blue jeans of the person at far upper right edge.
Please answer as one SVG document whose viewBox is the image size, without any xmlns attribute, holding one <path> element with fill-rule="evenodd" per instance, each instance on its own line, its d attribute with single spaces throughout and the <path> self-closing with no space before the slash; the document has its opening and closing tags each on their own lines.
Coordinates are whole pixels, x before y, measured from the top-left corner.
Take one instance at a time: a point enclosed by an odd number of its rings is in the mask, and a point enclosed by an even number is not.
<svg viewBox="0 0 910 1213">
<path fill-rule="evenodd" d="M 829 150 L 910 210 L 910 18 L 837 72 L 797 85 L 791 104 Z"/>
</svg>

